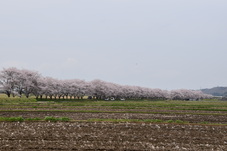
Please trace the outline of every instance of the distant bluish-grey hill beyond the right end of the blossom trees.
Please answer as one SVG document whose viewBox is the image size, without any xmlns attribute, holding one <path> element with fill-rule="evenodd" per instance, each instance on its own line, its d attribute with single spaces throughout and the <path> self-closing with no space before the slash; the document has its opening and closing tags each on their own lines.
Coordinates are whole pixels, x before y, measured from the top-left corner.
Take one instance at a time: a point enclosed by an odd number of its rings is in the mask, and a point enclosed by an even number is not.
<svg viewBox="0 0 227 151">
<path fill-rule="evenodd" d="M 227 87 L 214 87 L 210 89 L 202 89 L 203 93 L 211 94 L 213 96 L 225 96 L 227 97 Z"/>
</svg>

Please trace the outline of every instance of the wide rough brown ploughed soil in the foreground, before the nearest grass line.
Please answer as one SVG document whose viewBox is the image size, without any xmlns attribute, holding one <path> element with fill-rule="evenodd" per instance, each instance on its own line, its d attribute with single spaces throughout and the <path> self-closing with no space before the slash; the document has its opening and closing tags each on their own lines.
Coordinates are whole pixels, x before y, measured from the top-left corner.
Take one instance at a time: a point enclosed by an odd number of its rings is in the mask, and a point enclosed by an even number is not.
<svg viewBox="0 0 227 151">
<path fill-rule="evenodd" d="M 225 151 L 227 126 L 0 122 L 0 150 Z"/>
</svg>

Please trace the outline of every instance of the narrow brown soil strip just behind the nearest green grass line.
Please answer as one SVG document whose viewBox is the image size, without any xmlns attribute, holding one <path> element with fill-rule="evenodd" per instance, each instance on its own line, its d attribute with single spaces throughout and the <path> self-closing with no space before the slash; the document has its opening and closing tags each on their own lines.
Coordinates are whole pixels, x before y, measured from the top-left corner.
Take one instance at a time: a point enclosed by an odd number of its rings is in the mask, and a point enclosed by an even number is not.
<svg viewBox="0 0 227 151">
<path fill-rule="evenodd" d="M 225 115 L 195 115 L 195 114 L 142 114 L 142 113 L 76 113 L 76 112 L 55 112 L 55 111 L 0 111 L 0 117 L 24 117 L 24 118 L 44 118 L 46 116 L 68 117 L 73 120 L 88 120 L 91 118 L 100 119 L 160 119 L 160 120 L 182 120 L 190 123 L 219 123 L 227 124 Z"/>
</svg>

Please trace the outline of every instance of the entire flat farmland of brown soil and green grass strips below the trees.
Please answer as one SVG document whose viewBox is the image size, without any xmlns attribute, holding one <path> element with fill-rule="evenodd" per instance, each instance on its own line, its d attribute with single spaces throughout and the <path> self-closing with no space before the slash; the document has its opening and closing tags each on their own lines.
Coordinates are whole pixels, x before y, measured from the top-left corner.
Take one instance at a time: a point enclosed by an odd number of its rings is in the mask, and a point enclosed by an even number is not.
<svg viewBox="0 0 227 151">
<path fill-rule="evenodd" d="M 0 98 L 0 150 L 226 150 L 227 102 Z M 7 119 L 20 117 L 22 121 Z M 48 121 L 47 117 L 70 119 Z M 62 118 L 63 119 L 63 118 Z"/>
</svg>

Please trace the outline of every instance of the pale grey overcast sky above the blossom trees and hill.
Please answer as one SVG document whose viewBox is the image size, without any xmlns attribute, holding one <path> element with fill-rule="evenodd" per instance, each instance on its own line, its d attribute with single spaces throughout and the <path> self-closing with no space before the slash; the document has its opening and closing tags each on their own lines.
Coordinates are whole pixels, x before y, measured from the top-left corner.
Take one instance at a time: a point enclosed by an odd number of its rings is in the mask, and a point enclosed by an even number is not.
<svg viewBox="0 0 227 151">
<path fill-rule="evenodd" d="M 0 70 L 161 89 L 227 86 L 226 0 L 2 0 Z"/>
</svg>

